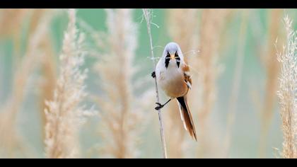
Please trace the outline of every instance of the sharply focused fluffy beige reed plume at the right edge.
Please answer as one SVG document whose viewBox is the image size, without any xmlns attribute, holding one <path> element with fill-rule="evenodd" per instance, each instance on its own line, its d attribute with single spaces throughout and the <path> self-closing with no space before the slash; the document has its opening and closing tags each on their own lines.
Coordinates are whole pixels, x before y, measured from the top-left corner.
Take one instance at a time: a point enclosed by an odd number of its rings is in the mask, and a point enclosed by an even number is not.
<svg viewBox="0 0 297 167">
<path fill-rule="evenodd" d="M 293 30 L 292 23 L 293 21 L 286 15 L 284 17 L 286 45 L 282 52 L 277 51 L 276 54 L 277 60 L 281 63 L 277 95 L 281 107 L 281 129 L 284 135 L 281 156 L 285 159 L 297 158 L 297 31 Z"/>
</svg>

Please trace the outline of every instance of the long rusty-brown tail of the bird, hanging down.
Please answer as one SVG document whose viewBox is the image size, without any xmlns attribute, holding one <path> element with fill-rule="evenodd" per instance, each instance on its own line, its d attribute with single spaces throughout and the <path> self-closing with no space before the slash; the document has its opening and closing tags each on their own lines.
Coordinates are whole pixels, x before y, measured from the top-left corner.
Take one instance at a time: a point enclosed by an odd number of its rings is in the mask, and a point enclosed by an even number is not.
<svg viewBox="0 0 297 167">
<path fill-rule="evenodd" d="M 191 112 L 187 106 L 187 96 L 177 98 L 178 106 L 180 106 L 180 117 L 185 129 L 190 133 L 191 137 L 197 141 L 196 130 L 192 119 Z"/>
</svg>

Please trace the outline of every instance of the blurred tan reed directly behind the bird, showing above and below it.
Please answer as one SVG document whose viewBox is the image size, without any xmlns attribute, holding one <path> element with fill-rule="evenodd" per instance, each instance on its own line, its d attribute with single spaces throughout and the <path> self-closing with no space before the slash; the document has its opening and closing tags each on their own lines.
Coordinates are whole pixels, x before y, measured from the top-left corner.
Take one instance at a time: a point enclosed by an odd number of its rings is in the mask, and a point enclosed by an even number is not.
<svg viewBox="0 0 297 167">
<path fill-rule="evenodd" d="M 180 45 L 185 55 L 185 62 L 188 62 L 188 56 L 193 55 L 197 50 L 197 11 L 194 8 L 176 8 L 169 9 L 167 13 L 170 38 Z M 170 139 L 168 140 L 168 156 L 173 159 L 185 157 L 186 150 L 189 149 L 178 108 L 177 103 L 171 102 L 165 109 L 167 110 L 165 113 L 168 113 L 168 117 L 165 117 L 165 127 L 168 129 L 166 136 Z"/>
</svg>

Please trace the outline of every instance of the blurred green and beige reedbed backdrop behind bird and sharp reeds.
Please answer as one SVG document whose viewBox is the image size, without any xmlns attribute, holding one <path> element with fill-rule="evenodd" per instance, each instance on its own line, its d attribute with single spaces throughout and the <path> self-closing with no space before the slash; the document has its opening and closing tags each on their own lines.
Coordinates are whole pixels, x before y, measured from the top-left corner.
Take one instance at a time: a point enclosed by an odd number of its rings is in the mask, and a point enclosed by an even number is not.
<svg viewBox="0 0 297 167">
<path fill-rule="evenodd" d="M 155 56 L 177 42 L 193 81 L 189 100 L 198 141 L 170 102 L 162 109 L 170 158 L 278 157 L 276 47 L 286 38 L 285 13 L 296 29 L 295 9 L 152 10 Z M 66 9 L 0 9 L 0 158 L 47 157 L 45 100 L 54 94 L 68 22 Z M 79 157 L 161 158 L 142 10 L 77 9 L 76 26 L 85 35 L 82 68 L 88 69 L 81 105 L 98 113 L 79 129 Z M 120 132 L 112 130 L 118 117 L 126 122 Z"/>
</svg>

